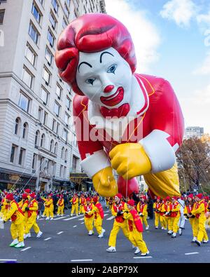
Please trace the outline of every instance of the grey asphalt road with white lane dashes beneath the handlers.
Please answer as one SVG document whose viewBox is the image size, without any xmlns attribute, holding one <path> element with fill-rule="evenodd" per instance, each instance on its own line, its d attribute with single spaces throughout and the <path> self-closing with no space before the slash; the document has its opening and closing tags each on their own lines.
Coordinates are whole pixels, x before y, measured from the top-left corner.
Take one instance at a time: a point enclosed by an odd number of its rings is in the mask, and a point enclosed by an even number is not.
<svg viewBox="0 0 210 277">
<path fill-rule="evenodd" d="M 117 252 L 106 252 L 109 234 L 113 226 L 111 212 L 105 209 L 103 227 L 106 229 L 104 238 L 88 236 L 83 216 L 70 217 L 69 213 L 54 220 L 38 219 L 43 231 L 41 238 L 36 238 L 31 231 L 31 238 L 25 240 L 25 248 L 15 249 L 8 245 L 10 222 L 5 229 L 0 229 L 0 263 L 14 260 L 18 263 L 209 263 L 210 243 L 198 247 L 190 243 L 192 235 L 190 223 L 186 221 L 186 229 L 182 236 L 171 238 L 167 231 L 154 228 L 153 220 L 148 219 L 150 228 L 144 231 L 144 240 L 150 250 L 148 257 L 134 255 L 130 241 L 120 231 L 117 238 Z M 209 234 L 210 236 L 210 234 Z"/>
</svg>

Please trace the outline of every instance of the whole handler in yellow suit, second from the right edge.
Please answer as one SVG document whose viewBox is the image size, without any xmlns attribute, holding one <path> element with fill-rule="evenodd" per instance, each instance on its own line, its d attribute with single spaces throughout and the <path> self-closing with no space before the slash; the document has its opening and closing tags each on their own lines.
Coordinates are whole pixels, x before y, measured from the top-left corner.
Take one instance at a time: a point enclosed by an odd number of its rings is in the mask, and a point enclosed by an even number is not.
<svg viewBox="0 0 210 277">
<path fill-rule="evenodd" d="M 195 243 L 197 241 L 197 233 L 198 233 L 198 226 L 197 226 L 197 219 L 195 215 L 192 215 L 192 211 L 195 210 L 195 201 L 193 199 L 193 194 L 189 194 L 187 201 L 185 203 L 185 208 L 184 208 L 184 216 L 189 219 L 192 231 L 193 231 L 193 240 L 191 241 L 192 243 Z M 190 217 L 188 217 L 190 215 Z"/>
</svg>

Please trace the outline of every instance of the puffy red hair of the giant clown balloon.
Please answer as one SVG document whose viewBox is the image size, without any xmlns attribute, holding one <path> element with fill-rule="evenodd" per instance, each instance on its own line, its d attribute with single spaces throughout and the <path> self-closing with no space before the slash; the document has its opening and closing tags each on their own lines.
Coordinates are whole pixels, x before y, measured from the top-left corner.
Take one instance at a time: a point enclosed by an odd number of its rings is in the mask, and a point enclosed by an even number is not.
<svg viewBox="0 0 210 277">
<path fill-rule="evenodd" d="M 55 62 L 59 76 L 78 95 L 84 95 L 76 83 L 79 52 L 95 53 L 115 48 L 134 73 L 137 59 L 134 44 L 127 28 L 104 13 L 91 13 L 73 20 L 57 41 Z"/>
</svg>

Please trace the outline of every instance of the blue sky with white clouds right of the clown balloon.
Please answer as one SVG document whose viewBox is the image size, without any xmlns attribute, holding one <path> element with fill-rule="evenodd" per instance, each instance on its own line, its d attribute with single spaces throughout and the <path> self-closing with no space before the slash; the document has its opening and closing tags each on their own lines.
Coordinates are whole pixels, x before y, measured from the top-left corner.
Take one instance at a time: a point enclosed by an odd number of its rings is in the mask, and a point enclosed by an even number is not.
<svg viewBox="0 0 210 277">
<path fill-rule="evenodd" d="M 105 1 L 132 35 L 137 72 L 170 81 L 186 127 L 210 133 L 210 1 Z"/>
</svg>

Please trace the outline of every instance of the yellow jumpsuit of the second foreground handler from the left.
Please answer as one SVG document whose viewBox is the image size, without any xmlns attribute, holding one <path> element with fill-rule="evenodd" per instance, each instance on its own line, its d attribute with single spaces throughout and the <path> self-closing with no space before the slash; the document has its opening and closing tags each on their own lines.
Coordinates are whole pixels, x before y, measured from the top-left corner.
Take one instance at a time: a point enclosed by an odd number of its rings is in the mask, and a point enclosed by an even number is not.
<svg viewBox="0 0 210 277">
<path fill-rule="evenodd" d="M 28 220 L 27 225 L 25 228 L 25 234 L 28 234 L 31 230 L 31 228 L 34 228 L 34 231 L 36 234 L 40 231 L 38 224 L 36 223 L 36 217 L 37 217 L 37 210 L 38 210 L 38 203 L 36 199 L 33 199 L 29 203 L 29 210 L 28 210 Z"/>
</svg>

